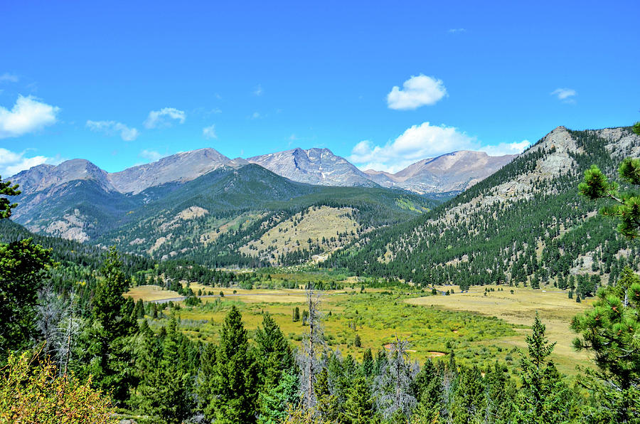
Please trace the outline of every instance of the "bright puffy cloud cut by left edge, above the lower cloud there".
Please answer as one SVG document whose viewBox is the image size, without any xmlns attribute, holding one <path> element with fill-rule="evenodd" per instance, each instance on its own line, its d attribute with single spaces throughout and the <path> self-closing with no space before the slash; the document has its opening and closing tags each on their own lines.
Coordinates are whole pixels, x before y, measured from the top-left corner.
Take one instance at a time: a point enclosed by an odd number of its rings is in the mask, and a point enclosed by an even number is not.
<svg viewBox="0 0 640 424">
<path fill-rule="evenodd" d="M 11 110 L 0 106 L 0 139 L 36 132 L 58 120 L 60 107 L 47 105 L 36 97 L 18 95 Z"/>
</svg>

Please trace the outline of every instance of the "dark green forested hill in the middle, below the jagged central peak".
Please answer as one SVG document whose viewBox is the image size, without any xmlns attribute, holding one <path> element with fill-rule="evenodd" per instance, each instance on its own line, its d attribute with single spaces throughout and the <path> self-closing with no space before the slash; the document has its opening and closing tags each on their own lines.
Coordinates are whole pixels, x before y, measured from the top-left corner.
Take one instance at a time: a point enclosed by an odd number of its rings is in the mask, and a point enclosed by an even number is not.
<svg viewBox="0 0 640 424">
<path fill-rule="evenodd" d="M 340 243 L 319 240 L 302 249 L 255 248 L 260 239 L 292 217 L 310 220 L 309 208 L 326 206 L 334 216 L 348 213 L 357 223 L 358 235 L 365 230 L 406 221 L 435 206 L 420 196 L 376 188 L 311 186 L 290 181 L 262 166 L 250 164 L 239 169 L 221 168 L 190 181 L 157 201 L 127 214 L 127 222 L 96 240 L 116 244 L 131 253 L 154 258 L 189 258 L 208 265 L 279 265 L 304 263 L 311 256 Z M 336 221 L 337 222 L 337 221 Z M 301 228 L 304 227 L 304 224 Z M 325 230 L 329 238 L 338 227 Z M 304 240 L 311 234 L 304 236 Z M 284 239 L 280 240 L 284 243 Z M 317 242 L 317 243 L 316 243 Z M 310 245 L 311 244 L 311 245 Z M 243 248 L 243 246 L 245 248 Z M 250 248 L 249 246 L 252 246 Z"/>
</svg>

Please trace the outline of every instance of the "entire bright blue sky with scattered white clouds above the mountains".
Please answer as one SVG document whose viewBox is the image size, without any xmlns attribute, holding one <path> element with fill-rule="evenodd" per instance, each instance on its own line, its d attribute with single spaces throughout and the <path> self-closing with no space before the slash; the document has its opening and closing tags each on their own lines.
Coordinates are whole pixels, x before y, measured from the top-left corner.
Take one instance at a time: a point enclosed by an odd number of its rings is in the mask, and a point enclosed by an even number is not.
<svg viewBox="0 0 640 424">
<path fill-rule="evenodd" d="M 213 147 L 398 171 L 640 119 L 637 1 L 8 1 L 0 175 Z"/>
</svg>

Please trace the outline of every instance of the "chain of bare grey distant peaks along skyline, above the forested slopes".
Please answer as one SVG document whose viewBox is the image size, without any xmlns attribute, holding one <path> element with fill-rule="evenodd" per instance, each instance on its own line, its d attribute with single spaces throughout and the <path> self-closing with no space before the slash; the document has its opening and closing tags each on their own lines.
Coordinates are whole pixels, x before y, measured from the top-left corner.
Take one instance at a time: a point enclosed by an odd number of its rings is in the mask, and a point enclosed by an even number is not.
<svg viewBox="0 0 640 424">
<path fill-rule="evenodd" d="M 60 186 L 74 180 L 92 180 L 106 191 L 139 194 L 164 184 L 191 181 L 221 166 L 240 167 L 248 163 L 292 181 L 321 186 L 395 187 L 418 194 L 462 191 L 493 174 L 516 155 L 490 157 L 484 152 L 453 152 L 423 159 L 397 174 L 361 171 L 329 149 L 292 149 L 284 152 L 230 159 L 215 149 L 197 149 L 164 157 L 159 161 L 107 173 L 85 159 L 64 161 L 58 166 L 42 164 L 11 176 L 24 187 L 24 194 Z"/>
</svg>

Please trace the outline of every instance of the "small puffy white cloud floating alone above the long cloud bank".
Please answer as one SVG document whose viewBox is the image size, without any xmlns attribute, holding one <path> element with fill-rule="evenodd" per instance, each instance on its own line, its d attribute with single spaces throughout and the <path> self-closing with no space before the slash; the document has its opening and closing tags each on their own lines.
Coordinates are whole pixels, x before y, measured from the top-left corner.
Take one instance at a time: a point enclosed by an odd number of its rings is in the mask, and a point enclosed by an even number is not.
<svg viewBox="0 0 640 424">
<path fill-rule="evenodd" d="M 402 83 L 402 90 L 396 85 L 387 95 L 389 109 L 416 109 L 424 105 L 434 105 L 447 95 L 442 80 L 427 75 L 412 76 Z"/>
</svg>

